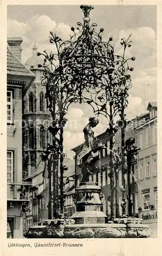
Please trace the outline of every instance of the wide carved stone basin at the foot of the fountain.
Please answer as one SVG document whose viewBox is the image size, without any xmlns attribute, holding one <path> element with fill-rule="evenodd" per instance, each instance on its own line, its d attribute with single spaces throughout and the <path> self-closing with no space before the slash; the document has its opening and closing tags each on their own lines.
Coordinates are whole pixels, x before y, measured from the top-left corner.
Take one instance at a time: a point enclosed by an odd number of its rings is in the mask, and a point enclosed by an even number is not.
<svg viewBox="0 0 162 256">
<path fill-rule="evenodd" d="M 74 220 L 47 220 L 43 226 L 33 226 L 25 234 L 26 238 L 148 238 L 152 235 L 148 225 L 130 223 L 84 223 L 74 224 Z M 135 220 L 133 220 L 135 221 Z"/>
</svg>

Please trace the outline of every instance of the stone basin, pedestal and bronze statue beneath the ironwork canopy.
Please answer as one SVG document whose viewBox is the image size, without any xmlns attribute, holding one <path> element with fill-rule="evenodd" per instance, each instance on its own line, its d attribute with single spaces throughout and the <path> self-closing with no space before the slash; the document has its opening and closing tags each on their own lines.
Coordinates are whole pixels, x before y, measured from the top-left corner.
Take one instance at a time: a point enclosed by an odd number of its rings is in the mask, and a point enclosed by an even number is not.
<svg viewBox="0 0 162 256">
<path fill-rule="evenodd" d="M 114 218 L 107 220 L 101 211 L 103 194 L 96 182 L 88 180 L 89 168 L 100 159 L 103 145 L 95 138 L 92 127 L 99 123 L 97 118 L 89 118 L 85 126 L 84 144 L 79 154 L 82 159 L 82 181 L 76 189 L 74 200 L 76 212 L 70 219 L 47 220 L 43 226 L 32 227 L 26 238 L 147 238 L 151 230 L 140 218 Z"/>
</svg>

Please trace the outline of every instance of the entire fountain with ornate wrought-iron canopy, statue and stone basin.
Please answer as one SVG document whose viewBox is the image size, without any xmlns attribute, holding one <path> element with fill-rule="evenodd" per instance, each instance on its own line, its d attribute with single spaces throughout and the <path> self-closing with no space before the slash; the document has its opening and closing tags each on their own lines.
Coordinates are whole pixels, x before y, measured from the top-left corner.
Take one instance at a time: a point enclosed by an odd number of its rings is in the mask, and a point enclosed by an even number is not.
<svg viewBox="0 0 162 256">
<path fill-rule="evenodd" d="M 135 60 L 135 57 L 128 59 L 125 57 L 127 47 L 131 47 L 131 35 L 127 39 L 121 39 L 122 56 L 115 55 L 110 43 L 112 37 L 104 42 L 102 39 L 104 29 L 101 28 L 97 33 L 95 31 L 97 25 L 95 23 L 89 25 L 89 12 L 94 8 L 87 5 L 81 5 L 80 8 L 84 13 L 83 24 L 77 23 L 76 30 L 72 27 L 74 35 L 71 36 L 70 40 L 63 42 L 60 37 L 50 32 L 50 42 L 56 46 L 57 54 L 50 53 L 48 55 L 46 51 L 38 53 L 38 55 L 44 57 L 42 84 L 46 87 L 47 103 L 53 118 L 52 125 L 49 127 L 53 143 L 44 149 L 42 160 L 48 166 L 53 165 L 53 169 L 49 167 L 49 184 L 51 184 L 51 173 L 56 174 L 56 170 L 60 166 L 60 197 L 57 200 L 59 200 L 61 215 L 52 219 L 52 195 L 50 190 L 49 220 L 44 221 L 42 226 L 30 227 L 25 237 L 147 238 L 151 236 L 149 227 L 143 224 L 142 219 L 131 217 L 130 188 L 128 189 L 127 200 L 128 216 L 125 214 L 125 158 L 127 159 L 129 180 L 131 159 L 137 154 L 137 149 L 133 146 L 134 139 L 130 138 L 125 141 L 126 115 L 124 111 L 128 105 L 128 90 L 131 88 L 129 72 L 133 71 L 128 62 Z M 108 120 L 106 132 L 110 138 L 110 220 L 101 211 L 103 199 L 101 187 L 97 183 L 88 180 L 89 169 L 95 166 L 97 159 L 100 159 L 100 151 L 103 148 L 103 145 L 95 138 L 92 131 L 92 127 L 99 123 L 96 117 L 89 118 L 89 123 L 83 130 L 85 141 L 79 154 L 79 160 L 82 160 L 83 178 L 80 186 L 76 189 L 76 212 L 70 219 L 63 218 L 63 127 L 67 121 L 65 115 L 68 106 L 77 102 L 91 105 L 96 116 L 104 115 Z M 122 218 L 118 218 L 118 212 L 115 215 L 113 212 L 114 201 L 116 205 L 118 204 L 116 195 L 118 192 L 118 161 L 113 159 L 113 136 L 117 132 L 117 127 L 114 124 L 116 118 L 120 118 L 118 125 L 121 129 Z M 114 191 L 116 193 L 115 197 Z"/>
</svg>

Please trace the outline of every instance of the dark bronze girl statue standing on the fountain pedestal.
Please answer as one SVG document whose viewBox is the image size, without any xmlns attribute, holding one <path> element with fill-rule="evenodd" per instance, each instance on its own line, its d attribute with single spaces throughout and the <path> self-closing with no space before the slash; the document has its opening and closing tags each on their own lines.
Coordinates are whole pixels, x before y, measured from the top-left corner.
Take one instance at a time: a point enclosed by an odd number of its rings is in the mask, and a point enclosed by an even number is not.
<svg viewBox="0 0 162 256">
<path fill-rule="evenodd" d="M 90 117 L 89 123 L 83 129 L 85 141 L 78 155 L 78 162 L 82 162 L 82 182 L 89 181 L 88 177 L 91 173 L 89 169 L 91 169 L 92 163 L 99 158 L 100 150 L 104 147 L 103 144 L 94 136 L 94 131 L 92 130 L 92 128 L 96 127 L 98 124 L 98 118 Z"/>
</svg>

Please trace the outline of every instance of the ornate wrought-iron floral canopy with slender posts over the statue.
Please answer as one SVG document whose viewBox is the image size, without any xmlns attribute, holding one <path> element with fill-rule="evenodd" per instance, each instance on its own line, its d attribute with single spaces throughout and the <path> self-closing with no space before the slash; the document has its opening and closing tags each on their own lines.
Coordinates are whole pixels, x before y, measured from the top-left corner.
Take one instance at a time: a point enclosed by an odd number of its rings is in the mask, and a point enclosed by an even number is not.
<svg viewBox="0 0 162 256">
<path fill-rule="evenodd" d="M 83 24 L 78 22 L 77 28 L 71 28 L 69 40 L 62 39 L 50 32 L 50 43 L 56 50 L 48 54 L 38 53 L 44 57 L 42 84 L 46 87 L 46 99 L 52 114 L 53 147 L 56 137 L 59 144 L 60 182 L 63 184 L 63 127 L 65 115 L 72 103 L 87 103 L 92 106 L 94 114 L 104 115 L 108 119 L 110 136 L 110 183 L 113 198 L 113 135 L 116 132 L 114 119 L 119 117 L 124 123 L 124 110 L 128 105 L 128 90 L 131 88 L 130 73 L 133 68 L 130 61 L 135 57 L 126 58 L 127 48 L 131 47 L 131 35 L 121 39 L 123 54 L 115 55 L 112 46 L 113 38 L 104 41 L 104 29 L 96 31 L 97 24 L 90 25 L 91 6 L 81 5 Z M 39 65 L 40 67 L 40 65 Z M 124 133 L 124 127 L 122 128 Z M 123 138 L 123 137 L 122 137 Z M 122 144 L 124 150 L 124 142 Z M 122 161 L 124 166 L 124 160 Z M 63 185 L 60 191 L 63 198 Z M 61 201 L 63 208 L 63 200 Z M 113 207 L 111 207 L 113 208 Z M 113 215 L 113 214 L 112 214 Z M 111 216 L 112 217 L 112 216 Z"/>
</svg>

